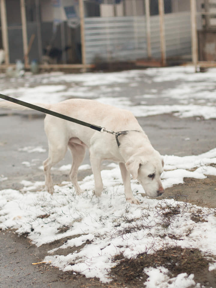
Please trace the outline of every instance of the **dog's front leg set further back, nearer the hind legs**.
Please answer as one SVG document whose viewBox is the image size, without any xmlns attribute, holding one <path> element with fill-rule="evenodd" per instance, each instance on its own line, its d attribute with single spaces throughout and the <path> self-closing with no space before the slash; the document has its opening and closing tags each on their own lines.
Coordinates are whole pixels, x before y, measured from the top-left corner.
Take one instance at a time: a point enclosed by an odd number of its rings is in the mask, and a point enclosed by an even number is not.
<svg viewBox="0 0 216 288">
<path fill-rule="evenodd" d="M 103 191 L 103 182 L 101 178 L 101 158 L 95 153 L 90 151 L 90 162 L 91 162 L 91 169 L 95 178 L 95 195 L 101 196 L 101 192 Z"/>
</svg>

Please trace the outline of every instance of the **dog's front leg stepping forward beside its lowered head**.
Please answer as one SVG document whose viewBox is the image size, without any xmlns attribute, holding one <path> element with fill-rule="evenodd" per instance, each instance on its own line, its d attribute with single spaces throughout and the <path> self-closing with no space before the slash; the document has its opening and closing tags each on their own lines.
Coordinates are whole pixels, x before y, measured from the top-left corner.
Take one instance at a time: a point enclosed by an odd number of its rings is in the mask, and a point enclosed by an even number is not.
<svg viewBox="0 0 216 288">
<path fill-rule="evenodd" d="M 119 163 L 119 167 L 122 174 L 122 180 L 125 187 L 125 198 L 129 203 L 140 204 L 139 200 L 136 199 L 131 190 L 131 176 L 130 172 L 126 169 L 125 163 Z"/>
</svg>

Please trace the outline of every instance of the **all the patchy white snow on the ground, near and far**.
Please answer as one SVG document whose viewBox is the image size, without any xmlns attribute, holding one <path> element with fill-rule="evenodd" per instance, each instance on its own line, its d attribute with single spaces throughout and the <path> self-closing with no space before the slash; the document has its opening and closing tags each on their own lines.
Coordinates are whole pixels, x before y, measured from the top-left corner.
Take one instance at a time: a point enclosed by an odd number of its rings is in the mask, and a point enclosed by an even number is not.
<svg viewBox="0 0 216 288">
<path fill-rule="evenodd" d="M 4 87 L 1 93 L 28 102 L 54 103 L 83 97 L 131 110 L 137 117 L 174 113 L 176 117 L 216 118 L 216 70 L 209 69 L 206 73 L 193 71 L 193 67 L 167 67 L 116 73 L 55 72 L 35 76 L 26 74 L 23 78 L 11 79 L 10 89 L 4 77 L 0 78 L 0 83 Z M 174 81 L 178 83 L 173 85 Z M 169 82 L 167 86 L 159 91 L 157 85 L 165 85 L 166 82 Z M 20 87 L 14 87 L 14 83 L 19 83 Z M 149 88 L 133 90 L 133 97 L 130 97 L 127 90 L 136 89 L 140 83 Z M 125 97 L 118 97 L 119 91 L 124 89 Z M 155 98 L 163 103 L 150 105 Z M 175 105 L 167 104 L 172 103 L 172 99 Z M 42 147 L 24 147 L 21 151 L 45 152 Z M 183 183 L 184 177 L 202 179 L 206 175 L 216 175 L 216 148 L 197 156 L 166 155 L 164 160 L 164 188 Z M 22 164 L 30 167 L 36 162 L 24 161 Z M 21 182 L 21 191 L 1 190 L 0 228 L 13 228 L 19 234 L 25 233 L 37 246 L 69 237 L 70 240 L 62 246 L 55 244 L 44 260 L 51 261 L 52 265 L 64 271 L 73 270 L 86 277 L 99 277 L 104 282 L 111 280 L 108 272 L 116 265 L 112 259 L 119 253 L 130 258 L 174 245 L 198 248 L 203 253 L 211 251 L 216 255 L 214 209 L 173 199 L 144 197 L 141 195 L 143 188 L 134 180 L 131 180 L 132 189 L 141 204 L 128 204 L 119 168 L 113 163 L 108 166 L 109 170 L 102 171 L 105 189 L 101 198 L 93 194 L 92 175 L 79 182 L 84 191 L 80 196 L 75 195 L 69 182 L 55 185 L 53 195 L 44 190 L 44 182 L 25 179 Z M 63 171 L 69 169 L 70 165 L 60 168 Z M 90 167 L 84 165 L 80 169 Z M 0 181 L 5 180 L 7 175 L 1 175 Z M 169 209 L 177 209 L 178 213 L 164 219 L 163 211 Z M 197 211 L 205 221 L 193 220 L 191 215 Z M 165 220 L 168 221 L 166 225 Z M 174 234 L 176 238 L 170 238 L 169 234 Z M 161 238 L 161 235 L 166 236 Z M 215 263 L 209 265 L 209 271 L 212 269 L 216 269 Z M 171 288 L 179 286 L 178 283 L 187 288 L 195 284 L 193 274 L 170 277 L 164 267 L 149 267 L 144 272 L 149 275 L 145 285 L 151 288 Z"/>
</svg>

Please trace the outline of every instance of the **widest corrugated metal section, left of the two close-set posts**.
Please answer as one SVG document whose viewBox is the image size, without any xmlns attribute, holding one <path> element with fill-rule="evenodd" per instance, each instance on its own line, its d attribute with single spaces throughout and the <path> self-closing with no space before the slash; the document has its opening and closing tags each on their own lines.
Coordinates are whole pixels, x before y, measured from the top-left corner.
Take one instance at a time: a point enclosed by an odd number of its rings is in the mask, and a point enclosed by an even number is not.
<svg viewBox="0 0 216 288">
<path fill-rule="evenodd" d="M 147 57 L 143 16 L 85 18 L 86 62 Z"/>
</svg>

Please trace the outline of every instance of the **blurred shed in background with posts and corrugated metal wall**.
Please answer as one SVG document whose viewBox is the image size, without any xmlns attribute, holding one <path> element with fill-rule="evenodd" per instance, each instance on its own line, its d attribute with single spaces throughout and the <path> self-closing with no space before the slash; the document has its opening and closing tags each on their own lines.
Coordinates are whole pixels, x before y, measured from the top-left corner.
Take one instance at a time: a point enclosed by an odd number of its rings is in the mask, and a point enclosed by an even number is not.
<svg viewBox="0 0 216 288">
<path fill-rule="evenodd" d="M 173 59 L 197 66 L 197 30 L 215 26 L 212 1 L 0 0 L 0 64 L 86 70 Z"/>
</svg>

